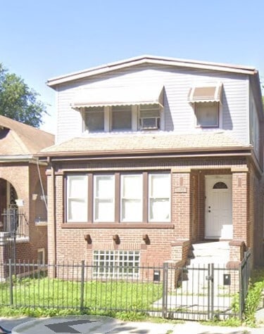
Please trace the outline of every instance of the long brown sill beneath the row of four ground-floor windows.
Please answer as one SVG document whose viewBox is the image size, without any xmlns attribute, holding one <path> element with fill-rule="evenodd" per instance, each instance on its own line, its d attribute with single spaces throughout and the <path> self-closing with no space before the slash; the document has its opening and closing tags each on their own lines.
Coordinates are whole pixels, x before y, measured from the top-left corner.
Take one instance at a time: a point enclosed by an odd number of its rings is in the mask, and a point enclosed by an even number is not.
<svg viewBox="0 0 264 334">
<path fill-rule="evenodd" d="M 64 223 L 63 229 L 174 229 L 170 223 Z"/>
</svg>

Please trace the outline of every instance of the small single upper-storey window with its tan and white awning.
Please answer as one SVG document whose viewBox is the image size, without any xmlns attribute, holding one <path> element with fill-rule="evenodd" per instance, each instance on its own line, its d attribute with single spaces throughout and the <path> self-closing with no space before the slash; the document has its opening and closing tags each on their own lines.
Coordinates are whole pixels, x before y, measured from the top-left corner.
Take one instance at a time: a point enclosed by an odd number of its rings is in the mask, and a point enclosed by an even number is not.
<svg viewBox="0 0 264 334">
<path fill-rule="evenodd" d="M 219 127 L 222 83 L 199 84 L 189 90 L 188 100 L 194 107 L 196 127 Z"/>
</svg>

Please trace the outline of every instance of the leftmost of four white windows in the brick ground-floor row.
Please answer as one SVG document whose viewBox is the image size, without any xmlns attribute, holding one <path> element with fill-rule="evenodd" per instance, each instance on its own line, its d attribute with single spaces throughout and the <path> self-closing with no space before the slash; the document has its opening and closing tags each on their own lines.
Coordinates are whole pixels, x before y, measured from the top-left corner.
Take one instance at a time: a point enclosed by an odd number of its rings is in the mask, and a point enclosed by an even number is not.
<svg viewBox="0 0 264 334">
<path fill-rule="evenodd" d="M 87 175 L 67 176 L 67 221 L 87 222 Z"/>
</svg>

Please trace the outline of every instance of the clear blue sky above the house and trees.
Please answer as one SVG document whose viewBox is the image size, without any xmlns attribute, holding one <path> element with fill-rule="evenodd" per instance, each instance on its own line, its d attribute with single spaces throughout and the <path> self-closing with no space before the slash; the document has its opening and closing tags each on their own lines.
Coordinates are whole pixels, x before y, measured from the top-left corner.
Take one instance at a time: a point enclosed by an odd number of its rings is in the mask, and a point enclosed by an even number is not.
<svg viewBox="0 0 264 334">
<path fill-rule="evenodd" d="M 253 65 L 264 82 L 263 0 L 0 0 L 0 63 L 48 104 L 51 77 L 142 54 Z"/>
</svg>

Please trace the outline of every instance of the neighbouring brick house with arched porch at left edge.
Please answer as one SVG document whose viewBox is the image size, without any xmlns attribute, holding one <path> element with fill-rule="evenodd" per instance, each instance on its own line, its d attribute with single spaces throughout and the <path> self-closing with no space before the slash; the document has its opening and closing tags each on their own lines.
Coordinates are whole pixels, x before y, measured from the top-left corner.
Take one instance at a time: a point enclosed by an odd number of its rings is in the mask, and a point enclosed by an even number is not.
<svg viewBox="0 0 264 334">
<path fill-rule="evenodd" d="M 34 154 L 53 143 L 54 135 L 0 115 L 1 263 L 47 259 L 46 163 Z M 10 208 L 19 212 L 17 220 L 7 214 Z"/>
</svg>

